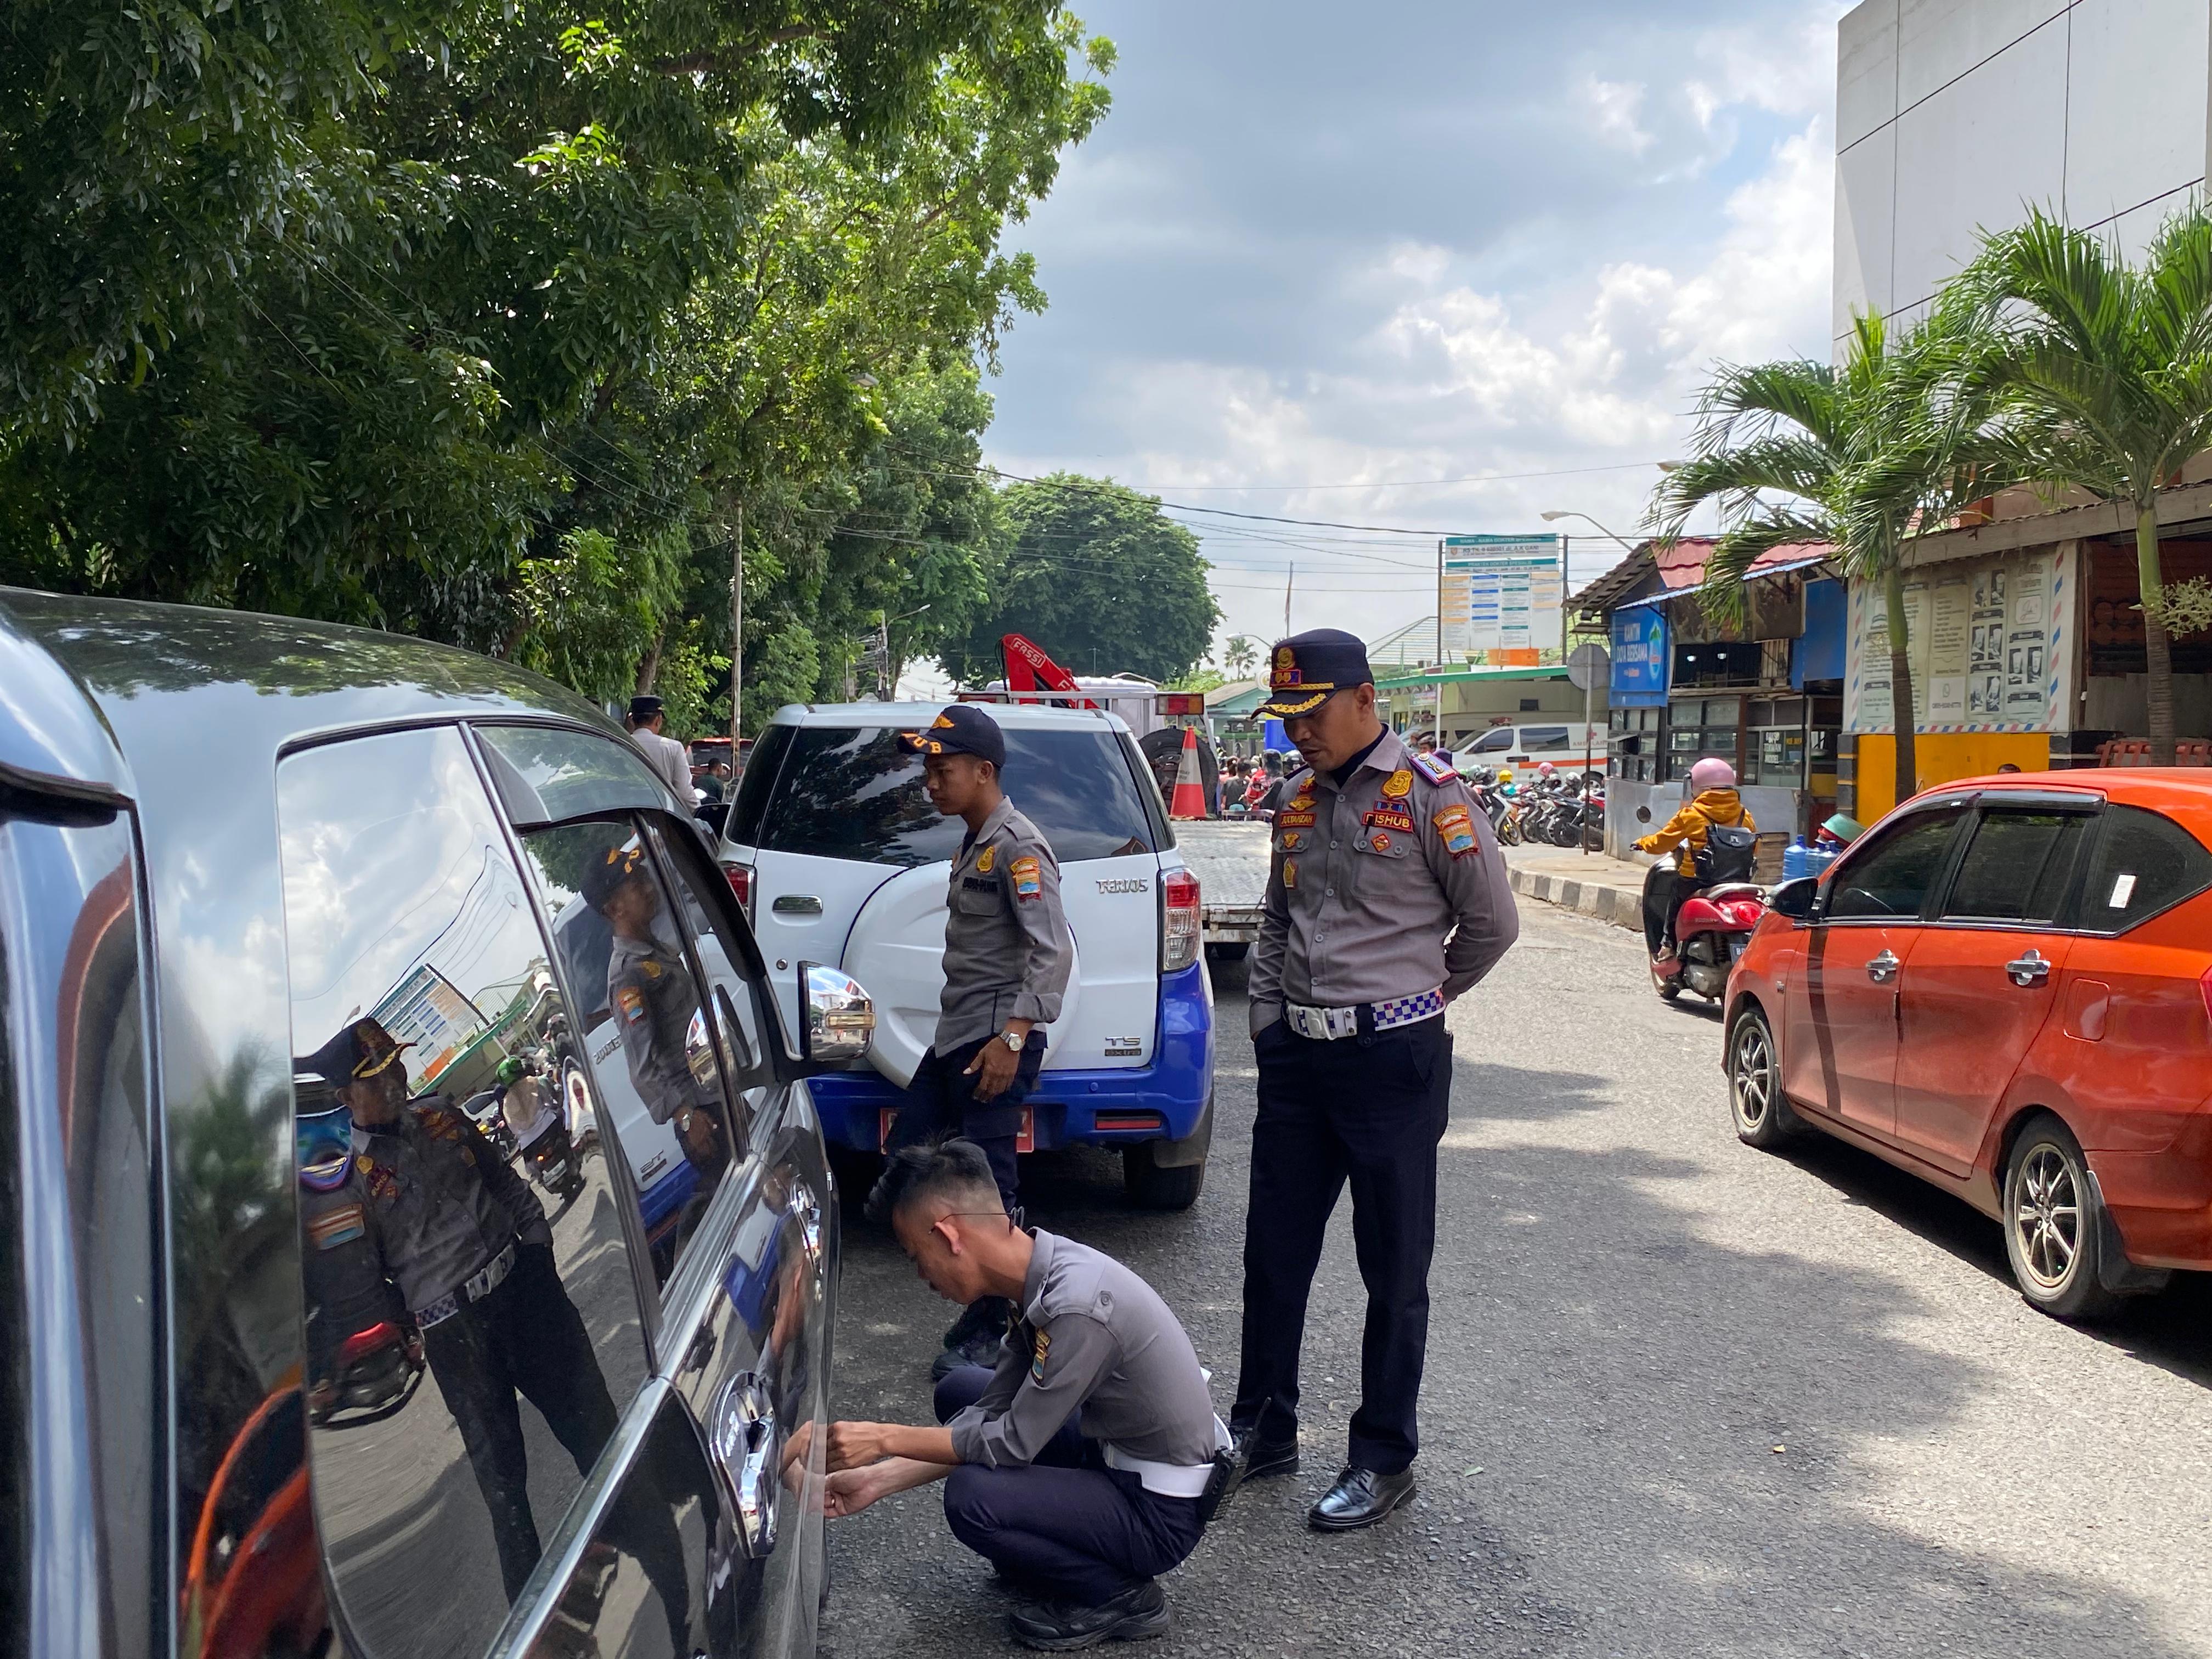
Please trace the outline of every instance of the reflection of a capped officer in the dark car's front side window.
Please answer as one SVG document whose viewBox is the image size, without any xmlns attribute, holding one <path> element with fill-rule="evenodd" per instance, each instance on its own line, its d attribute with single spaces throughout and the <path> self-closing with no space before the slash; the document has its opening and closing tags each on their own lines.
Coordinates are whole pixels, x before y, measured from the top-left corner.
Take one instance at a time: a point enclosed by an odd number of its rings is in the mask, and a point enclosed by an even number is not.
<svg viewBox="0 0 2212 1659">
<path fill-rule="evenodd" d="M 728 1164 L 712 1077 L 697 1077 L 686 1053 L 699 1013 L 699 987 L 675 940 L 675 920 L 644 847 L 615 845 L 584 867 L 584 902 L 606 918 L 606 1006 L 622 1033 L 630 1086 L 655 1124 L 675 1124 L 684 1157 L 706 1183 Z"/>
</svg>

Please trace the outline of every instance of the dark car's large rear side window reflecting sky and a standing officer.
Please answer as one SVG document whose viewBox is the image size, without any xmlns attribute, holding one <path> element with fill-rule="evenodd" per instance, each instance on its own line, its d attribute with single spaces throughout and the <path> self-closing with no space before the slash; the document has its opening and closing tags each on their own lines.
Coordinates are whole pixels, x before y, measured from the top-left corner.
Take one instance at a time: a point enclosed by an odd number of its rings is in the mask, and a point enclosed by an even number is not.
<svg viewBox="0 0 2212 1659">
<path fill-rule="evenodd" d="M 626 1199 L 460 732 L 294 754 L 276 807 L 321 1540 L 361 1652 L 473 1659 L 644 1385 Z"/>
</svg>

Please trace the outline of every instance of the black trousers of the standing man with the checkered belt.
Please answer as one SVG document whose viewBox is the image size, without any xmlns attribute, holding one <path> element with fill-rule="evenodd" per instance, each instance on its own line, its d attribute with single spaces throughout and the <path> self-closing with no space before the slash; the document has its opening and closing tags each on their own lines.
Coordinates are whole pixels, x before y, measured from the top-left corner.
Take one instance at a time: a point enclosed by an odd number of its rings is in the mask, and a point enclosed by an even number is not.
<svg viewBox="0 0 2212 1659">
<path fill-rule="evenodd" d="M 1352 1186 L 1352 1243 L 1367 1285 L 1358 1469 L 1413 1462 L 1413 1407 L 1429 1347 L 1436 1144 L 1451 1110 L 1451 1033 L 1422 1020 L 1321 1042 L 1276 1022 L 1254 1040 L 1259 1117 L 1245 1212 L 1243 1369 L 1230 1427 L 1281 1442 L 1298 1431 L 1305 1298 L 1336 1199 Z"/>
</svg>

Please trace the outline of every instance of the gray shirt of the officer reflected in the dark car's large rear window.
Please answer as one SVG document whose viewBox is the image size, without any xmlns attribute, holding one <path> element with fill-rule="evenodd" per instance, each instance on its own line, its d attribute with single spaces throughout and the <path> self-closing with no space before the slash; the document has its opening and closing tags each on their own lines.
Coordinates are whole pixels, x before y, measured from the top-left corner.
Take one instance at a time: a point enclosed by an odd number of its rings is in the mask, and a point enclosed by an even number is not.
<svg viewBox="0 0 2212 1659">
<path fill-rule="evenodd" d="M 445 1095 L 392 1128 L 354 1126 L 345 1188 L 409 1312 L 460 1290 L 509 1243 L 551 1243 L 544 1206 Z"/>
</svg>

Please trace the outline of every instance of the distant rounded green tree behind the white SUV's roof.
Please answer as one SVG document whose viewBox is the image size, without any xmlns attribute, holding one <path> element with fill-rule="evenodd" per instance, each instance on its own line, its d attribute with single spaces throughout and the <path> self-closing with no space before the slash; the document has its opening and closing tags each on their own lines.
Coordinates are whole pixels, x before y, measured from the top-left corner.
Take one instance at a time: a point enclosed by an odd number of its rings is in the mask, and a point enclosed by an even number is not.
<svg viewBox="0 0 2212 1659">
<path fill-rule="evenodd" d="M 942 653 L 964 686 L 1000 672 L 998 639 L 1020 633 L 1068 672 L 1168 681 L 1206 657 L 1221 611 L 1206 588 L 1199 540 L 1110 480 L 1053 473 L 1009 484 L 1004 551 L 967 637 Z"/>
</svg>

